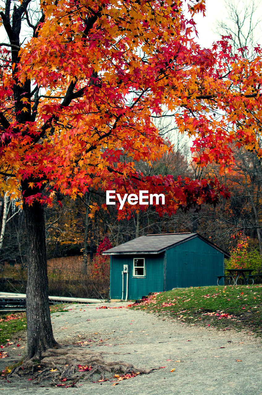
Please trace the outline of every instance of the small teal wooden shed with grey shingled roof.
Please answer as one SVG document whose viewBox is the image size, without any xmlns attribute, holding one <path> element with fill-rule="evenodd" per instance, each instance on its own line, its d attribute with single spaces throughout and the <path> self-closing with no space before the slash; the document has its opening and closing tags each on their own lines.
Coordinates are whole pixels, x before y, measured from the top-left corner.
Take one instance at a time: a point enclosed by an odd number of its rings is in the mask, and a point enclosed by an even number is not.
<svg viewBox="0 0 262 395">
<path fill-rule="evenodd" d="M 216 285 L 226 251 L 198 233 L 146 235 L 103 252 L 110 255 L 110 299 Z"/>
</svg>

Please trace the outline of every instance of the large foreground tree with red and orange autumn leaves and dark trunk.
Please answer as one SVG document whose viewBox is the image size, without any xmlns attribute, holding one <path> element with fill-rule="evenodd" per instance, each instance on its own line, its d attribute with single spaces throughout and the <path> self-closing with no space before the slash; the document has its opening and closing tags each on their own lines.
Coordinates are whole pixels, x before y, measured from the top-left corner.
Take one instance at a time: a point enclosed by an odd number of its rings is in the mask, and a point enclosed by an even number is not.
<svg viewBox="0 0 262 395">
<path fill-rule="evenodd" d="M 28 359 L 58 347 L 49 314 L 44 205 L 57 191 L 164 193 L 159 214 L 227 196 L 218 180 L 144 176 L 172 149 L 154 124 L 172 115 L 199 166 L 261 154 L 260 48 L 232 57 L 226 38 L 192 38 L 203 0 L 6 0 L 0 12 L 0 187 L 22 199 L 28 236 Z M 30 34 L 28 33 L 30 31 Z M 91 215 L 98 210 L 91 205 Z M 102 209 L 106 209 L 105 204 Z M 146 206 L 126 206 L 121 216 Z"/>
</svg>

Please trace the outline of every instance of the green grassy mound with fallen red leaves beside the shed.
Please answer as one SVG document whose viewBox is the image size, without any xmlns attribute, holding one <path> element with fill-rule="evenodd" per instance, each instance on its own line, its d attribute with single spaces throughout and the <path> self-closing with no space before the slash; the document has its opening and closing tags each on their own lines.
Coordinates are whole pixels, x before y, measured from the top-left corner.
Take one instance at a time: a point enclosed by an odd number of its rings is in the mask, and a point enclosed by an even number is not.
<svg viewBox="0 0 262 395">
<path fill-rule="evenodd" d="M 262 285 L 178 288 L 148 297 L 135 309 L 190 325 L 262 335 Z"/>
</svg>

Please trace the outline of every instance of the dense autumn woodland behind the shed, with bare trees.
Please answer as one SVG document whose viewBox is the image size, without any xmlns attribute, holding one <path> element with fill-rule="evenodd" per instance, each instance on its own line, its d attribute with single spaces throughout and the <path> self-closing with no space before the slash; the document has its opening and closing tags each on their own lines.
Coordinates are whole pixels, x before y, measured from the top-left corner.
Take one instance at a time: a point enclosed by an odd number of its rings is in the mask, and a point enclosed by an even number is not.
<svg viewBox="0 0 262 395">
<path fill-rule="evenodd" d="M 231 35 L 232 51 L 241 48 L 245 57 L 254 47 L 259 28 L 256 2 L 231 2 L 228 19 L 216 29 Z M 202 205 L 196 211 L 160 217 L 154 207 L 118 220 L 117 206 L 100 209 L 90 217 L 93 206 L 105 203 L 105 194 L 89 190 L 75 200 L 57 194 L 53 207 L 46 207 L 46 240 L 49 295 L 108 297 L 108 258 L 100 252 L 147 233 L 198 232 L 212 243 L 231 252 L 230 266 L 254 267 L 260 272 L 262 256 L 262 162 L 255 151 L 233 148 L 234 166 L 219 174 L 216 165 L 197 166 L 190 153 L 191 141 L 181 136 L 172 117 L 158 120 L 159 132 L 173 150 L 152 164 L 137 164 L 144 175 L 173 175 L 202 179 L 218 178 L 230 199 L 216 207 Z M 262 137 L 262 136 L 261 136 Z M 59 203 L 61 202 L 61 203 Z M 0 197 L 1 288 L 25 292 L 27 283 L 27 238 L 24 212 L 7 194 Z"/>
</svg>

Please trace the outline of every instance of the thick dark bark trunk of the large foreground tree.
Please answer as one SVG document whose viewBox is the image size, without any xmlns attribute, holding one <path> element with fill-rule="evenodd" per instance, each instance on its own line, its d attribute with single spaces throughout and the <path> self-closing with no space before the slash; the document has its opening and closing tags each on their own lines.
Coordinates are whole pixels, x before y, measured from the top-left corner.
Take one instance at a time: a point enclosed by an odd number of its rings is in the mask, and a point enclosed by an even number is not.
<svg viewBox="0 0 262 395">
<path fill-rule="evenodd" d="M 59 345 L 53 337 L 48 301 L 44 208 L 24 202 L 28 239 L 27 359 L 40 359 L 44 350 Z"/>
</svg>

